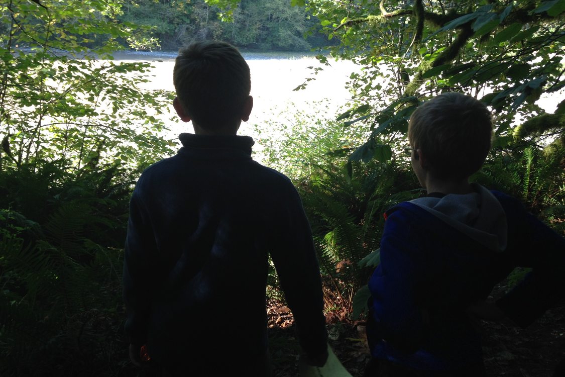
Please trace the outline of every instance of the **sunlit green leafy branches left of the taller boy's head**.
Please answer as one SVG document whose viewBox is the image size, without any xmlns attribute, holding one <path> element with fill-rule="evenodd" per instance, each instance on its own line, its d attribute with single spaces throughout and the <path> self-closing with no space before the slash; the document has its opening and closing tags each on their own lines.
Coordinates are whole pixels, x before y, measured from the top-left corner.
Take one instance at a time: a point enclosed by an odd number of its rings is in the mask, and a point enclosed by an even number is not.
<svg viewBox="0 0 565 377">
<path fill-rule="evenodd" d="M 115 63 L 131 36 L 117 1 L 0 5 L 0 166 L 68 159 L 137 164 L 168 153 L 158 115 L 170 93 L 140 89 L 149 64 Z"/>
</svg>

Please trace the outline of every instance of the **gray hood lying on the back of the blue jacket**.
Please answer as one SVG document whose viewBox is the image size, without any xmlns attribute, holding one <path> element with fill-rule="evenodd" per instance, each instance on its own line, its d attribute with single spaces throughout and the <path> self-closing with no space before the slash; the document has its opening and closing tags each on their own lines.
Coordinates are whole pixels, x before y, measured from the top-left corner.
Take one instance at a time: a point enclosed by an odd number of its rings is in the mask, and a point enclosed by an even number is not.
<svg viewBox="0 0 565 377">
<path fill-rule="evenodd" d="M 447 194 L 442 198 L 424 197 L 411 203 L 470 236 L 494 252 L 506 249 L 506 214 L 497 198 L 483 186 L 472 184 L 470 194 Z"/>
</svg>

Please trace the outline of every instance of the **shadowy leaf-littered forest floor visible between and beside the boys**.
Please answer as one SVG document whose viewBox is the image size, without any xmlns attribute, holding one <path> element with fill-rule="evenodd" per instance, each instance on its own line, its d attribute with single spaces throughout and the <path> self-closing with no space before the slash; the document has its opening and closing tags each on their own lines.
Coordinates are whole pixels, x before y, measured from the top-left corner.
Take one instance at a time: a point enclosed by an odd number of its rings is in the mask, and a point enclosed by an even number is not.
<svg viewBox="0 0 565 377">
<path fill-rule="evenodd" d="M 504 291 L 506 287 L 500 285 L 493 291 L 493 298 Z M 267 313 L 275 377 L 295 377 L 300 348 L 292 314 L 288 307 L 273 301 L 269 302 Z M 364 322 L 331 323 L 328 331 L 329 344 L 338 359 L 351 375 L 363 376 L 370 358 Z M 488 377 L 552 377 L 559 362 L 565 360 L 565 302 L 525 329 L 510 320 L 483 322 L 483 340 Z M 565 372 L 558 376 L 562 375 Z"/>
</svg>

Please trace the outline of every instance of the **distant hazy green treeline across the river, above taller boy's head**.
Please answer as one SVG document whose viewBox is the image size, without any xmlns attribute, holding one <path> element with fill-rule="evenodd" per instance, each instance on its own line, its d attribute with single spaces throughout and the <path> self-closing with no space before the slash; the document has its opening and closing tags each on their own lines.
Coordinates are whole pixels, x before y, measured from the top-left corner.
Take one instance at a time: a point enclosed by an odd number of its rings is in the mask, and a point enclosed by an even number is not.
<svg viewBox="0 0 565 377">
<path fill-rule="evenodd" d="M 151 30 L 134 32 L 133 49 L 175 50 L 190 42 L 223 40 L 245 49 L 305 51 L 327 46 L 319 34 L 319 21 L 290 0 L 242 0 L 233 22 L 219 19 L 220 10 L 204 0 L 127 0 L 118 19 Z"/>
</svg>

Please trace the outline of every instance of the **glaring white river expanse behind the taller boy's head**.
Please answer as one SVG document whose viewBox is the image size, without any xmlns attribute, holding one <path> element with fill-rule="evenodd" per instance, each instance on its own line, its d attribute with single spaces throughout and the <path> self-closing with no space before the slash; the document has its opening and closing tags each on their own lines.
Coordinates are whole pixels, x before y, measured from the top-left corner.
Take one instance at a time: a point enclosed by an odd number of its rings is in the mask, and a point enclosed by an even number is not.
<svg viewBox="0 0 565 377">
<path fill-rule="evenodd" d="M 330 61 L 330 66 L 320 64 L 313 56 L 300 53 L 242 53 L 251 71 L 251 96 L 254 99 L 249 122 L 242 123 L 241 135 L 255 136 L 262 123 L 272 122 L 285 111 L 323 111 L 324 116 L 334 118 L 351 95 L 345 88 L 351 72 L 359 67 L 349 61 Z M 114 54 L 115 60 L 144 60 L 153 65 L 150 81 L 142 89 L 173 91 L 172 72 L 176 52 L 121 51 Z M 311 67 L 311 68 L 309 68 Z M 323 70 L 314 74 L 314 68 Z M 306 89 L 295 91 L 308 78 Z M 320 106 L 320 109 L 318 109 Z M 169 112 L 174 114 L 172 105 Z M 275 119 L 276 120 L 276 119 Z M 166 137 L 176 137 L 180 132 L 193 132 L 190 123 L 166 120 L 171 130 Z"/>
</svg>

